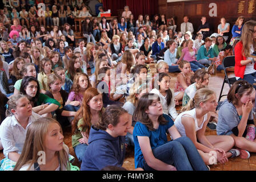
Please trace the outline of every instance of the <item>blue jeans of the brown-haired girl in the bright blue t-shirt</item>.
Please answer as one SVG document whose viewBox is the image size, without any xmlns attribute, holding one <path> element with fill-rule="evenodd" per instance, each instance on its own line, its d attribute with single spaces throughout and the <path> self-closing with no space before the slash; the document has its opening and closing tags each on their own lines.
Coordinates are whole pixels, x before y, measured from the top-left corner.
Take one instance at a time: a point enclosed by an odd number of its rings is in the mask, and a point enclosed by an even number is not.
<svg viewBox="0 0 256 182">
<path fill-rule="evenodd" d="M 155 158 L 167 164 L 174 164 L 178 171 L 208 171 L 197 148 L 188 137 L 179 137 L 152 151 Z M 147 163 L 144 164 L 143 169 L 145 171 L 154 170 Z"/>
</svg>

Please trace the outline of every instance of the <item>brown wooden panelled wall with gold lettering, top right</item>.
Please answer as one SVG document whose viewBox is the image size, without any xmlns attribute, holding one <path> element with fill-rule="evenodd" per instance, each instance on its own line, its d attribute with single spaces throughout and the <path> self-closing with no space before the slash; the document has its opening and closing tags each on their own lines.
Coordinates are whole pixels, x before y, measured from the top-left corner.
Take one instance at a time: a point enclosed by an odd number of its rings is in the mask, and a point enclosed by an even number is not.
<svg viewBox="0 0 256 182">
<path fill-rule="evenodd" d="M 210 3 L 217 5 L 217 16 L 210 17 Z M 189 22 L 193 23 L 194 32 L 197 32 L 201 24 L 201 16 L 206 16 L 210 23 L 211 30 L 218 32 L 217 27 L 222 17 L 230 23 L 230 31 L 238 16 L 244 16 L 245 20 L 256 20 L 256 0 L 199 0 L 199 1 L 181 1 L 167 3 L 167 0 L 158 0 L 159 14 L 165 14 L 166 17 L 175 16 L 177 22 L 177 31 L 181 28 L 183 16 L 189 16 Z"/>
</svg>

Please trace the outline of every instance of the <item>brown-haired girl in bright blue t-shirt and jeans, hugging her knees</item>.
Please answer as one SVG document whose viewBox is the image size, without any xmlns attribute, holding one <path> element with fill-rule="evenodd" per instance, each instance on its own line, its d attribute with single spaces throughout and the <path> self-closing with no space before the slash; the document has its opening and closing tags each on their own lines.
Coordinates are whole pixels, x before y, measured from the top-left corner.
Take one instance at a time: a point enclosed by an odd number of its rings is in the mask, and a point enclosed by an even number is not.
<svg viewBox="0 0 256 182">
<path fill-rule="evenodd" d="M 193 142 L 181 137 L 169 115 L 163 114 L 160 98 L 146 93 L 139 98 L 133 115 L 135 168 L 147 170 L 202 170 L 207 167 Z M 166 133 L 171 138 L 167 142 Z"/>
</svg>

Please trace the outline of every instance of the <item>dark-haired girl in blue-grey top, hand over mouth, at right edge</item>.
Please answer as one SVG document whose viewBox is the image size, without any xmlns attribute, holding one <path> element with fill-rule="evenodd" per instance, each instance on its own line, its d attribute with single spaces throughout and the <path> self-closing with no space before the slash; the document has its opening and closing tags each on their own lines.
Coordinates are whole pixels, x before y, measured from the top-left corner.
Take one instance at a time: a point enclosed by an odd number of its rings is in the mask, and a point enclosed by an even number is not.
<svg viewBox="0 0 256 182">
<path fill-rule="evenodd" d="M 236 81 L 219 108 L 217 125 L 218 135 L 230 135 L 235 147 L 241 152 L 242 159 L 256 152 L 255 125 L 253 117 L 253 85 L 245 80 Z"/>
</svg>

